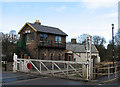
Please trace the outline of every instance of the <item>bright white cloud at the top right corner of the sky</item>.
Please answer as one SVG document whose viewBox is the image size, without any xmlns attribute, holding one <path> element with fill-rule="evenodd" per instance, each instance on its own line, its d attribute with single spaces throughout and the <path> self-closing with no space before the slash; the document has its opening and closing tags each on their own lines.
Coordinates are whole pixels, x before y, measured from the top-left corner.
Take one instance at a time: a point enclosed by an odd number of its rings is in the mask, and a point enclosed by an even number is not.
<svg viewBox="0 0 120 87">
<path fill-rule="evenodd" d="M 111 7 L 118 3 L 119 0 L 82 0 L 87 8 Z"/>
</svg>

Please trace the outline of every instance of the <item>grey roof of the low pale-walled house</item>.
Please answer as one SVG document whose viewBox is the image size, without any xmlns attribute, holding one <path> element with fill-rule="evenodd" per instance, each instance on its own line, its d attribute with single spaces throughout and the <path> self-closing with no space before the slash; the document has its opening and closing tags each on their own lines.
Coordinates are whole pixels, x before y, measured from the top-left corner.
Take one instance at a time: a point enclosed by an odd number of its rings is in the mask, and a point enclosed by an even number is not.
<svg viewBox="0 0 120 87">
<path fill-rule="evenodd" d="M 85 45 L 80 45 L 80 44 L 66 44 L 66 49 L 71 50 L 75 53 L 84 53 L 86 52 L 86 46 Z M 94 45 L 92 45 L 92 53 L 98 53 L 98 50 Z"/>
</svg>

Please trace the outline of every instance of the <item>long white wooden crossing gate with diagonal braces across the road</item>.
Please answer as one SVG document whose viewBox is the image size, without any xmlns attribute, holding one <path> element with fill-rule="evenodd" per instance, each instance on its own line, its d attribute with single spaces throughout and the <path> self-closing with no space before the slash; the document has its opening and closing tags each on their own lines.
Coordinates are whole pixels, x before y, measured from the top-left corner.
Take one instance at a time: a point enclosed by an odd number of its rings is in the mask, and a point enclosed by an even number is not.
<svg viewBox="0 0 120 87">
<path fill-rule="evenodd" d="M 31 69 L 28 69 L 28 63 L 31 64 Z M 13 72 L 39 73 L 89 80 L 92 73 L 89 70 L 90 64 L 86 62 L 20 59 L 14 54 Z"/>
</svg>

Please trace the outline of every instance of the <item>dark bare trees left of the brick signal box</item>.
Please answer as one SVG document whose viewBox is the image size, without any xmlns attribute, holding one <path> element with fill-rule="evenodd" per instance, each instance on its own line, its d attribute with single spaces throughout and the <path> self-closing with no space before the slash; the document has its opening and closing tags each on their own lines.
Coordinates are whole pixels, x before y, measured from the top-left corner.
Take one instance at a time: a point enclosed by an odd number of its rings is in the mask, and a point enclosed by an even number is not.
<svg viewBox="0 0 120 87">
<path fill-rule="evenodd" d="M 13 52 L 17 49 L 17 41 L 19 39 L 17 34 L 9 33 L 2 35 L 2 54 L 6 55 L 8 61 L 12 61 Z"/>
</svg>

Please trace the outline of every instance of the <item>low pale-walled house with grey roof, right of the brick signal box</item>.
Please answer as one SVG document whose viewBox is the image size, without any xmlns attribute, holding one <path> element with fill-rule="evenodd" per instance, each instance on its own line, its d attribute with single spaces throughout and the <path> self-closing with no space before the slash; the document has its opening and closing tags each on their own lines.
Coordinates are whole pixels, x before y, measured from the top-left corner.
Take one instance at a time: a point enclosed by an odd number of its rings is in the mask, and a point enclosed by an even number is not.
<svg viewBox="0 0 120 87">
<path fill-rule="evenodd" d="M 66 56 L 67 60 L 73 60 L 78 62 L 86 62 L 86 45 L 76 43 L 75 39 L 71 40 L 71 43 L 66 44 Z M 73 54 L 73 56 L 71 56 Z M 92 45 L 92 59 L 94 63 L 100 62 L 99 52 L 95 45 Z M 71 59 L 70 59 L 70 57 Z"/>
</svg>

